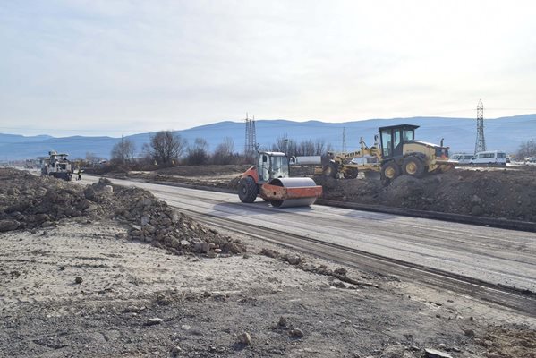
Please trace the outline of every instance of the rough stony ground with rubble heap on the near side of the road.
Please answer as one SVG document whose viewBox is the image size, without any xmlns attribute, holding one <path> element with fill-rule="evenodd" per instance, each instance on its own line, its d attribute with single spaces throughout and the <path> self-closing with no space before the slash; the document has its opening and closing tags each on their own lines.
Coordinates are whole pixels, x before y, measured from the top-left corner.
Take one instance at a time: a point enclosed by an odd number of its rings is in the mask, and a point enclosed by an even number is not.
<svg viewBox="0 0 536 358">
<path fill-rule="evenodd" d="M 0 179 L 0 356 L 536 357 L 512 311 L 217 233 L 141 190 Z"/>
</svg>

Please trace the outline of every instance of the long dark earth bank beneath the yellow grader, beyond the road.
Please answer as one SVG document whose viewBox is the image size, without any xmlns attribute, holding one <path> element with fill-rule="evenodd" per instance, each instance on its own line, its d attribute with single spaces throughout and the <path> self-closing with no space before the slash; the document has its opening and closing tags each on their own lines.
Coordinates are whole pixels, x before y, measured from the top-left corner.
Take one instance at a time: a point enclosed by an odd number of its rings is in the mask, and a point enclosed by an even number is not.
<svg viewBox="0 0 536 358">
<path fill-rule="evenodd" d="M 328 200 L 536 221 L 533 178 L 523 170 L 456 169 L 422 179 L 402 175 L 387 187 L 372 179 L 314 179 Z"/>
</svg>

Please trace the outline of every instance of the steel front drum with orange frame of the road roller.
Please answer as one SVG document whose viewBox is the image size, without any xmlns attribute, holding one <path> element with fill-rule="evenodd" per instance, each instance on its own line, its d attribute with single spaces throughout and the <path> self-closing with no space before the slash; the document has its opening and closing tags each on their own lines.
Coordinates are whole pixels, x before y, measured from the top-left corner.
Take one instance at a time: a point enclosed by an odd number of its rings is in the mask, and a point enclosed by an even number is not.
<svg viewBox="0 0 536 358">
<path fill-rule="evenodd" d="M 260 196 L 276 208 L 306 207 L 322 195 L 311 178 L 277 178 L 260 187 Z"/>
</svg>

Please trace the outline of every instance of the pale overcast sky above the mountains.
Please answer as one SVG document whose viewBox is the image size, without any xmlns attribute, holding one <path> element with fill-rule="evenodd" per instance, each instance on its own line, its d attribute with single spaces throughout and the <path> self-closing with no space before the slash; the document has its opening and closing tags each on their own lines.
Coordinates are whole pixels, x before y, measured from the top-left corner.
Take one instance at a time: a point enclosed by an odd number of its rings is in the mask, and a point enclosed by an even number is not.
<svg viewBox="0 0 536 358">
<path fill-rule="evenodd" d="M 0 1 L 0 132 L 536 113 L 533 1 Z"/>
</svg>

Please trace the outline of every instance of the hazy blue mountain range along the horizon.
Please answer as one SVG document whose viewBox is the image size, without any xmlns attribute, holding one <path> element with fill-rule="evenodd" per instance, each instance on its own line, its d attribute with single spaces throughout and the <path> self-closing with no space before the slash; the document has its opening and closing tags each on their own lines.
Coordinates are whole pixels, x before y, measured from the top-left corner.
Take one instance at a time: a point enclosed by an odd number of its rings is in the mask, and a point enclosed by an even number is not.
<svg viewBox="0 0 536 358">
<path fill-rule="evenodd" d="M 331 143 L 336 150 L 342 149 L 343 129 L 346 136 L 346 148 L 359 148 L 360 137 L 372 145 L 378 127 L 394 124 L 420 125 L 416 138 L 422 141 L 439 143 L 444 139 L 451 152 L 465 151 L 472 153 L 476 140 L 476 120 L 474 118 L 412 117 L 393 119 L 370 119 L 345 123 L 327 123 L 320 121 L 293 122 L 279 120 L 257 120 L 255 122 L 257 142 L 260 147 L 270 148 L 277 138 L 286 136 L 294 141 L 324 140 Z M 522 141 L 536 139 L 536 115 L 516 115 L 484 120 L 484 136 L 489 150 L 502 149 L 514 153 Z M 234 140 L 234 151 L 242 152 L 245 144 L 245 124 L 242 122 L 218 122 L 201 125 L 191 129 L 176 131 L 190 143 L 200 137 L 208 141 L 209 150 L 215 149 L 225 137 Z M 153 133 L 130 135 L 138 151 L 144 143 L 149 143 Z M 36 158 L 46 156 L 49 150 L 66 152 L 70 158 L 85 158 L 86 153 L 97 157 L 109 158 L 112 147 L 121 138 L 72 136 L 55 138 L 49 135 L 21 136 L 0 133 L 0 160 Z"/>
</svg>

